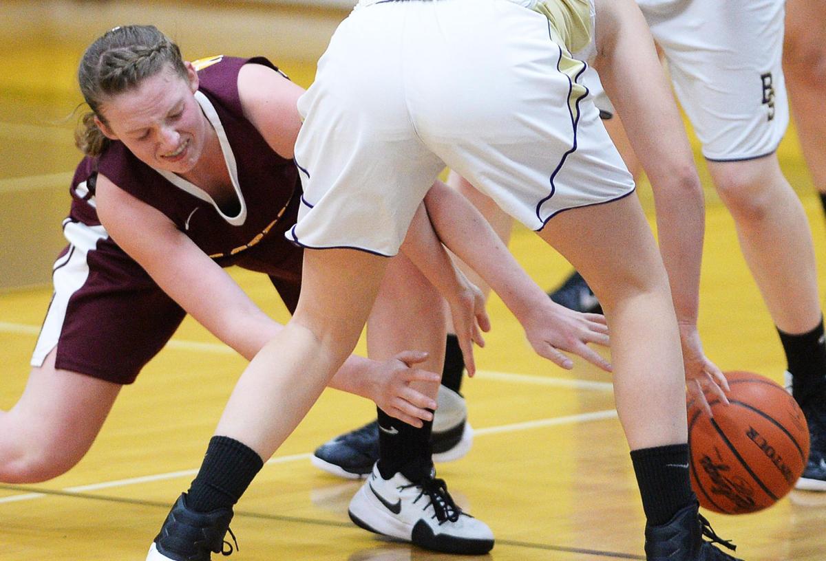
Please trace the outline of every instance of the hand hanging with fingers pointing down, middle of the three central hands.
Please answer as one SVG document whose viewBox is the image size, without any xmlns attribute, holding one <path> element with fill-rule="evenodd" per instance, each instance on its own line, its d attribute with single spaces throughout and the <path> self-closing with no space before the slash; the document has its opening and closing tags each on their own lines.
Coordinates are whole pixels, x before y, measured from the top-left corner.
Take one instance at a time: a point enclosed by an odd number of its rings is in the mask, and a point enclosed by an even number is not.
<svg viewBox="0 0 826 561">
<path fill-rule="evenodd" d="M 476 374 L 476 363 L 473 361 L 473 343 L 479 347 L 485 346 L 482 332 L 491 330 L 491 319 L 487 317 L 485 296 L 477 285 L 474 285 L 461 271 L 456 270 L 461 288 L 448 299 L 450 315 L 453 318 L 453 332 L 459 348 L 462 349 L 465 369 L 468 376 Z"/>
</svg>

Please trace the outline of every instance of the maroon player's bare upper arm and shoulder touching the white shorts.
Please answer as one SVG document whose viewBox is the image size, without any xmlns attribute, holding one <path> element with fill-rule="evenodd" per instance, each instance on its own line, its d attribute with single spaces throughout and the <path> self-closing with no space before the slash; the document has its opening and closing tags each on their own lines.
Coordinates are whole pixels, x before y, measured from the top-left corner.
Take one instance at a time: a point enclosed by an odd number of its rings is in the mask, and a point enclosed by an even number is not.
<svg viewBox="0 0 826 561">
<path fill-rule="evenodd" d="M 263 64 L 244 64 L 238 73 L 238 93 L 244 116 L 273 150 L 292 158 L 301 117 L 297 102 L 303 88 Z"/>
</svg>

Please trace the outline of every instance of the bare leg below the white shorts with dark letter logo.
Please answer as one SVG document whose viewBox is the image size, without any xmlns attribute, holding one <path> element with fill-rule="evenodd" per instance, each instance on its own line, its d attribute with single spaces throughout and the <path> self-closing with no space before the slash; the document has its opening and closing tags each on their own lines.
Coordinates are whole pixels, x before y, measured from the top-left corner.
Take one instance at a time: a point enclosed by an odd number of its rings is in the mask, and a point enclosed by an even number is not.
<svg viewBox="0 0 826 561">
<path fill-rule="evenodd" d="M 709 170 L 776 326 L 787 333 L 811 331 L 820 321 L 811 232 L 776 155 L 709 162 Z"/>
</svg>

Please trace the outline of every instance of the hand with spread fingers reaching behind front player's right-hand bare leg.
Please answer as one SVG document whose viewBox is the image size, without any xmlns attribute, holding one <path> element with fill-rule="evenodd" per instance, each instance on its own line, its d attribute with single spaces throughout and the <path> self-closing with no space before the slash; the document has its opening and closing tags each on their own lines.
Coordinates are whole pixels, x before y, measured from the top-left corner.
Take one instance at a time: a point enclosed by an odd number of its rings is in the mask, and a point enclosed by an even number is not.
<svg viewBox="0 0 826 561">
<path fill-rule="evenodd" d="M 520 319 L 525 336 L 539 356 L 544 356 L 566 370 L 573 368 L 573 361 L 561 351 L 582 356 L 586 361 L 606 372 L 611 365 L 586 343 L 608 347 L 608 325 L 601 314 L 582 314 L 556 304 L 546 298 L 539 307 L 531 309 L 528 318 Z"/>
</svg>

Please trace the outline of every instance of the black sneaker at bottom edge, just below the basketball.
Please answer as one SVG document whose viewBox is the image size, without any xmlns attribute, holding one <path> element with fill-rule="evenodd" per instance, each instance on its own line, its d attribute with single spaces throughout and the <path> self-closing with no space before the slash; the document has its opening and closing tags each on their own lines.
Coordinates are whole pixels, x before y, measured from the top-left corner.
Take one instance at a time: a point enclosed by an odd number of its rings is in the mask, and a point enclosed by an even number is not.
<svg viewBox="0 0 826 561">
<path fill-rule="evenodd" d="M 698 512 L 694 501 L 677 512 L 662 526 L 645 526 L 645 559 L 647 561 L 743 561 L 725 554 L 712 543 L 737 549 L 729 540 L 722 540 L 711 529 L 709 521 Z M 703 540 L 703 536 L 711 541 Z"/>
</svg>

